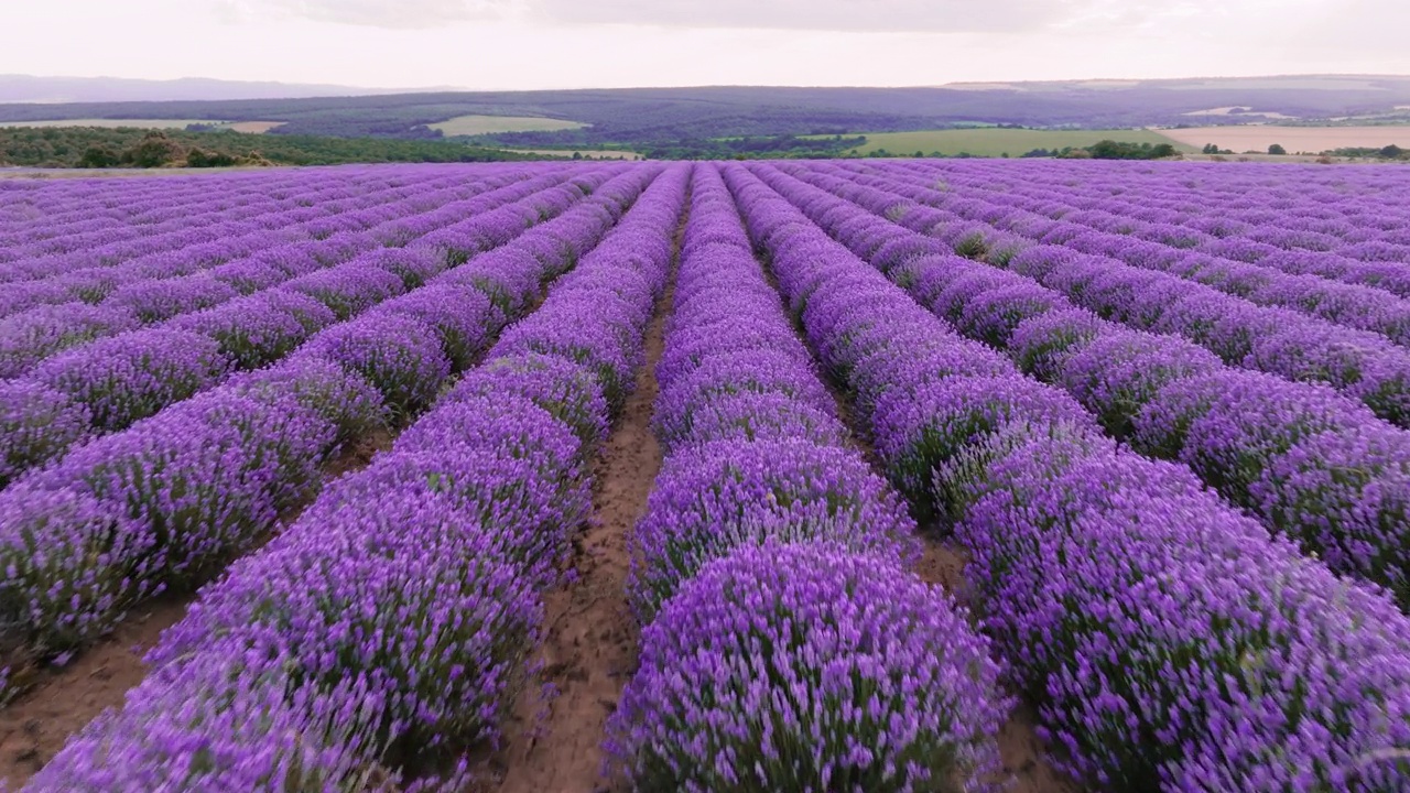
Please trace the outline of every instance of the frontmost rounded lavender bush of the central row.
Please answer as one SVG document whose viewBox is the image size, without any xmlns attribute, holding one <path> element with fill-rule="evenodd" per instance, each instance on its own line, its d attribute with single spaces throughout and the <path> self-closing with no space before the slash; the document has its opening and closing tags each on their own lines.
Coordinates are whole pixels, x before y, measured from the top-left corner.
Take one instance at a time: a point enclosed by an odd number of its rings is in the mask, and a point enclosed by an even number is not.
<svg viewBox="0 0 1410 793">
<path fill-rule="evenodd" d="M 979 790 L 1007 710 L 987 650 L 891 562 L 742 547 L 643 631 L 608 749 L 640 790 Z"/>
</svg>

